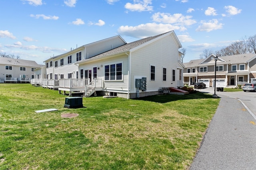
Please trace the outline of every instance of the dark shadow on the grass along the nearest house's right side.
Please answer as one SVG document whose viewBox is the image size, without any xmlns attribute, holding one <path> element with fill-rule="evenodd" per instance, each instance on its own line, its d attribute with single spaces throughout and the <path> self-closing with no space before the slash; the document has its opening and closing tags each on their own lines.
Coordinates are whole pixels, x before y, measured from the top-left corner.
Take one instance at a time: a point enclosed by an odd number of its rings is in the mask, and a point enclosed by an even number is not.
<svg viewBox="0 0 256 170">
<path fill-rule="evenodd" d="M 144 100 L 144 101 L 156 102 L 156 103 L 168 103 L 176 100 L 209 99 L 209 98 L 212 98 L 212 95 L 208 92 L 196 92 L 194 94 L 185 94 L 185 95 L 164 94 L 164 95 L 146 96 L 142 98 L 136 98 L 134 100 Z"/>
</svg>

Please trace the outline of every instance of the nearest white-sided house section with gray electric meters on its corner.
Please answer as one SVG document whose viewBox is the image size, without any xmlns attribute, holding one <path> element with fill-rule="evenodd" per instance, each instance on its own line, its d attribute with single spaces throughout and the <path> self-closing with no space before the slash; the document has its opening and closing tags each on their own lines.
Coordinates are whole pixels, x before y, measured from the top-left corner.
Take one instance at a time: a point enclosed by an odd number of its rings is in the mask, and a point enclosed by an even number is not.
<svg viewBox="0 0 256 170">
<path fill-rule="evenodd" d="M 86 96 L 93 92 L 122 98 L 150 96 L 160 94 L 163 87 L 183 86 L 184 65 L 178 51 L 181 47 L 174 31 L 169 31 L 127 43 L 75 64 L 78 65 L 78 77 L 88 80 Z M 146 88 L 140 90 L 136 87 L 136 79 L 146 80 Z M 71 91 L 64 86 L 59 90 Z"/>
</svg>

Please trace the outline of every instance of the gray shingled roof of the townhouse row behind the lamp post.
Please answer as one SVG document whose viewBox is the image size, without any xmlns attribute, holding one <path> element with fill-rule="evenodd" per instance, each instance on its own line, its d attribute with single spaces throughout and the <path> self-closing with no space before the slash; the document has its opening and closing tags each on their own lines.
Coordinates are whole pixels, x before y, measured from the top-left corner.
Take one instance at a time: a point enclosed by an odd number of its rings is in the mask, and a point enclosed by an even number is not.
<svg viewBox="0 0 256 170">
<path fill-rule="evenodd" d="M 239 55 L 230 55 L 230 56 L 223 56 L 223 57 L 219 57 L 221 59 L 224 60 L 224 62 L 217 62 L 216 64 L 239 64 L 239 63 L 246 63 L 247 61 L 249 61 L 250 59 L 252 59 L 253 57 L 255 57 L 256 54 L 252 54 L 252 53 L 247 53 L 247 54 L 239 54 Z M 215 63 L 203 63 L 203 64 L 199 64 L 202 61 L 204 61 L 204 59 L 198 59 L 198 60 L 191 60 L 188 63 L 183 63 L 185 68 L 192 68 L 192 67 L 196 67 L 196 66 L 209 66 L 209 65 L 214 65 Z"/>
</svg>

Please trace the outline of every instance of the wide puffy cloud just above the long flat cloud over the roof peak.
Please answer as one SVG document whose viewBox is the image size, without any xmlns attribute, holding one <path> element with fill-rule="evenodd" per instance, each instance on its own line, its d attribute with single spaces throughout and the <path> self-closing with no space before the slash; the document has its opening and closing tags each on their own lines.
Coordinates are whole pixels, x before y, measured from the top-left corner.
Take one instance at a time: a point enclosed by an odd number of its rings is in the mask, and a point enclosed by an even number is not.
<svg viewBox="0 0 256 170">
<path fill-rule="evenodd" d="M 161 23 L 175 23 L 175 25 L 192 25 L 196 20 L 192 20 L 192 16 L 183 16 L 182 14 L 155 13 L 152 15 L 153 21 Z"/>
</svg>

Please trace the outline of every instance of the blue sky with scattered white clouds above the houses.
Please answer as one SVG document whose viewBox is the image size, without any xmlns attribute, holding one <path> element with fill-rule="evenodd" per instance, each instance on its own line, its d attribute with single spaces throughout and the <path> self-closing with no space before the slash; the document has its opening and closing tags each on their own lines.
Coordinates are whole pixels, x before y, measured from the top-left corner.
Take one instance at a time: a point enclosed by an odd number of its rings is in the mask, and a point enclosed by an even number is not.
<svg viewBox="0 0 256 170">
<path fill-rule="evenodd" d="M 255 35 L 255 9 L 256 0 L 0 0 L 0 53 L 44 64 L 108 37 L 174 30 L 186 63 Z"/>
</svg>

